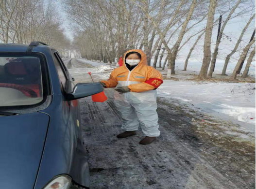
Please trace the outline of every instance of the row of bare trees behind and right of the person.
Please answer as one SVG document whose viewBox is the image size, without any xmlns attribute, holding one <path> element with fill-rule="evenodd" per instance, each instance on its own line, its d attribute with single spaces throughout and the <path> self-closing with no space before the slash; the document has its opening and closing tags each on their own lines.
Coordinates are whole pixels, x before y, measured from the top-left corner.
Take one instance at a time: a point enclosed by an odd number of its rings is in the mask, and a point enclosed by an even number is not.
<svg viewBox="0 0 256 189">
<path fill-rule="evenodd" d="M 185 71 L 187 70 L 188 60 L 200 40 L 204 41 L 204 58 L 199 78 L 206 79 L 209 67 L 208 76 L 212 77 L 220 44 L 225 36 L 224 29 L 234 18 L 249 17 L 234 49 L 226 57 L 222 74 L 226 74 L 232 55 L 240 52 L 238 69 L 235 69 L 232 75 L 235 79 L 249 49 L 255 42 L 255 38 L 249 43 L 249 39 L 243 37 L 248 28 L 252 28 L 252 23 L 255 23 L 255 5 L 252 0 L 62 0 L 62 2 L 73 24 L 72 28 L 77 31 L 74 44 L 82 57 L 112 62 L 129 49 L 143 49 L 148 57 L 148 65 L 151 65 L 153 57 L 154 68 L 158 60 L 162 69 L 168 62 L 169 78 L 171 74 L 175 74 L 176 58 L 180 56 L 181 50 L 190 44 L 191 48 L 184 68 Z M 222 20 L 219 19 L 220 15 Z M 218 29 L 218 26 L 220 27 L 217 42 L 213 43 L 212 33 L 214 29 Z M 245 47 L 241 48 L 241 46 Z M 211 48 L 214 49 L 213 53 Z M 166 58 L 162 66 L 163 57 Z"/>
</svg>

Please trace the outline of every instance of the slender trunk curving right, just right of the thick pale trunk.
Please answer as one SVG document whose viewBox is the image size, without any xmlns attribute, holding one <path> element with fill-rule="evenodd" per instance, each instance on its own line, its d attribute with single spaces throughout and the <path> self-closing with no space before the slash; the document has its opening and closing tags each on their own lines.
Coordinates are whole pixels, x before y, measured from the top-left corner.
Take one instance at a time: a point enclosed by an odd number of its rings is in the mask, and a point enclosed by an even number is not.
<svg viewBox="0 0 256 189">
<path fill-rule="evenodd" d="M 214 71 L 214 68 L 215 68 L 215 63 L 216 63 L 216 58 L 217 58 L 217 55 L 218 55 L 218 50 L 219 50 L 219 45 L 221 44 L 221 39 L 222 39 L 222 34 L 223 34 L 223 31 L 226 27 L 226 24 L 227 22 L 229 21 L 231 15 L 235 12 L 235 10 L 238 8 L 238 5 L 240 4 L 241 0 L 238 0 L 237 4 L 233 7 L 233 9 L 230 11 L 229 15 L 227 16 L 227 19 L 225 20 L 225 22 L 223 23 L 222 25 L 222 29 L 220 31 L 220 34 L 219 34 L 219 37 L 217 39 L 217 43 L 215 45 L 215 49 L 214 49 L 214 53 L 213 53 L 213 56 L 212 56 L 212 61 L 211 61 L 211 68 L 210 68 L 210 71 L 209 71 L 209 74 L 208 76 L 209 77 L 212 77 L 212 73 Z"/>
</svg>

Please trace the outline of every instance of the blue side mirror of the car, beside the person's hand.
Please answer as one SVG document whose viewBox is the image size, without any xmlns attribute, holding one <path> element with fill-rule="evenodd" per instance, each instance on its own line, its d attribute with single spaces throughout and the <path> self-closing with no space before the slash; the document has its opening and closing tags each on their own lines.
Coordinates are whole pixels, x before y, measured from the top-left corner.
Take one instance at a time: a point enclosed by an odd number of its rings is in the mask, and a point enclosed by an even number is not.
<svg viewBox="0 0 256 189">
<path fill-rule="evenodd" d="M 88 97 L 103 91 L 100 83 L 78 83 L 71 93 L 65 94 L 68 101 Z"/>
</svg>

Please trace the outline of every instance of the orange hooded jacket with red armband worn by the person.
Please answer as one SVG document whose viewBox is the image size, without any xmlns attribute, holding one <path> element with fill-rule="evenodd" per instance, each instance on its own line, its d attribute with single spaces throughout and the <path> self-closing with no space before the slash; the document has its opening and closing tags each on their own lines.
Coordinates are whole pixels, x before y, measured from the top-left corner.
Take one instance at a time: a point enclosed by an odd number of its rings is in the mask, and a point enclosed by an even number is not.
<svg viewBox="0 0 256 189">
<path fill-rule="evenodd" d="M 132 71 L 129 71 L 125 65 L 126 54 L 129 52 L 137 52 L 141 55 L 140 62 Z M 119 83 L 130 81 L 129 83 L 136 83 L 128 86 L 131 92 L 143 92 L 159 87 L 163 83 L 162 79 L 163 76 L 160 72 L 147 65 L 146 54 L 140 49 L 132 49 L 124 54 L 123 65 L 113 70 L 107 81 L 101 82 L 110 88 L 116 87 Z"/>
</svg>

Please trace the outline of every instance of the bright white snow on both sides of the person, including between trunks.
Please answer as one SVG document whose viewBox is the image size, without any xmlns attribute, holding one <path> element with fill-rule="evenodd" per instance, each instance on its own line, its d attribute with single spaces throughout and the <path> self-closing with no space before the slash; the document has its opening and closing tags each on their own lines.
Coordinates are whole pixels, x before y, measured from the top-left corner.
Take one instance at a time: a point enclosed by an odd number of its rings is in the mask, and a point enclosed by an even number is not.
<svg viewBox="0 0 256 189">
<path fill-rule="evenodd" d="M 96 68 L 90 69 L 90 72 L 103 79 L 108 78 L 114 68 L 111 69 L 109 65 L 85 59 L 78 60 L 96 66 Z M 190 108 L 196 108 L 197 111 L 203 111 L 225 121 L 239 124 L 239 129 L 255 135 L 255 83 L 188 80 L 193 77 L 192 73 L 199 73 L 201 65 L 200 62 L 189 62 L 188 71 L 182 72 L 184 64 L 177 62 L 177 75 L 172 77 L 178 80 L 164 80 L 164 83 L 158 88 L 158 95 L 167 101 L 168 98 L 177 99 L 179 103 L 187 104 Z M 223 62 L 217 61 L 215 74 L 221 73 L 222 66 Z M 227 73 L 232 73 L 232 69 L 232 64 L 230 64 Z M 166 71 L 161 71 L 161 73 L 166 74 Z M 255 67 L 251 67 L 250 74 L 255 75 Z"/>
</svg>

